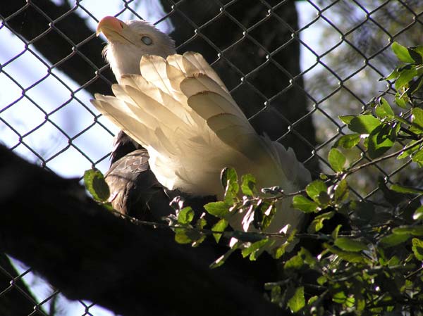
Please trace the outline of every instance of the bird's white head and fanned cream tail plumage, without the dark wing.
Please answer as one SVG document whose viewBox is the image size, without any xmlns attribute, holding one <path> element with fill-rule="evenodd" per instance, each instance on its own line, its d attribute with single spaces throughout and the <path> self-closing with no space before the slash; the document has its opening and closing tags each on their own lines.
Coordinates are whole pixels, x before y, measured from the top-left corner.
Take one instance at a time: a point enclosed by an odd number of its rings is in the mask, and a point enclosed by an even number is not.
<svg viewBox="0 0 423 316">
<path fill-rule="evenodd" d="M 226 167 L 251 173 L 257 187 L 279 186 L 286 193 L 311 180 L 292 148 L 255 132 L 200 53 L 176 54 L 170 37 L 145 21 L 106 17 L 99 32 L 109 41 L 104 54 L 118 84 L 112 86 L 115 96 L 96 94 L 92 103 L 147 148 L 150 168 L 164 187 L 222 198 L 220 173 Z M 302 225 L 304 215 L 291 202 L 278 201 L 264 232 L 289 233 Z M 253 218 L 243 210 L 229 222 L 255 232 Z"/>
</svg>

